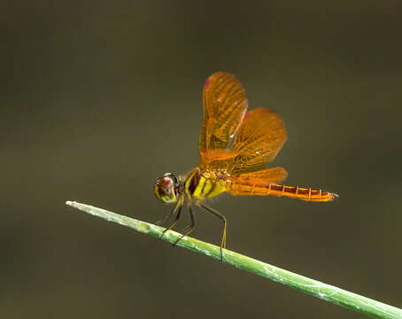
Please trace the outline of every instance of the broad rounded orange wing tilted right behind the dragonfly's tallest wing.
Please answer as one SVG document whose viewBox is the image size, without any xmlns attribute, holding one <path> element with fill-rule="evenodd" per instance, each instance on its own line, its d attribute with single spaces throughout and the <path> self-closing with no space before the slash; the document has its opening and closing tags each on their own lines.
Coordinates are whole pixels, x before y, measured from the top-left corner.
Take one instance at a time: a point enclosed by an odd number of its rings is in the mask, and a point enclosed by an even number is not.
<svg viewBox="0 0 402 319">
<path fill-rule="evenodd" d="M 286 141 L 282 118 L 273 110 L 259 108 L 244 116 L 232 152 L 239 155 L 228 163 L 231 175 L 259 171 L 267 167 Z"/>
</svg>

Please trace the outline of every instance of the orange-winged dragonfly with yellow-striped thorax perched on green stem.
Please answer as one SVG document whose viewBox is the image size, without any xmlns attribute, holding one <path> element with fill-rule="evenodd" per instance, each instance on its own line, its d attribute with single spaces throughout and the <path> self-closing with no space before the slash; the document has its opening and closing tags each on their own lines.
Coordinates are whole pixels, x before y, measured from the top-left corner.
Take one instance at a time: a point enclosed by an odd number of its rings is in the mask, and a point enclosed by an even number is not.
<svg viewBox="0 0 402 319">
<path fill-rule="evenodd" d="M 281 183 L 286 176 L 282 167 L 267 168 L 286 141 L 281 117 L 271 109 L 258 108 L 247 112 L 247 97 L 242 84 L 233 74 L 217 72 L 205 82 L 203 92 L 204 120 L 199 136 L 199 163 L 187 176 L 166 173 L 153 187 L 155 196 L 164 203 L 175 203 L 174 209 L 158 224 L 174 216 L 171 230 L 179 221 L 184 202 L 189 206 L 190 225 L 182 237 L 194 229 L 192 204 L 220 218 L 223 232 L 220 242 L 226 247 L 227 220 L 205 198 L 227 191 L 231 195 L 285 196 L 313 202 L 328 202 L 337 195 Z M 182 239 L 180 237 L 175 243 Z"/>
</svg>

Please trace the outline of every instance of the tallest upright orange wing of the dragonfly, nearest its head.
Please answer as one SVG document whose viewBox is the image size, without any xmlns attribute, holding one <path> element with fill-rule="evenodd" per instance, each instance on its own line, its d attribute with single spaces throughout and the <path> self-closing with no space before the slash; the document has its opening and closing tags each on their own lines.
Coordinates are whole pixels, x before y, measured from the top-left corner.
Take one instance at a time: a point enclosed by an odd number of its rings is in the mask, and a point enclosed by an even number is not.
<svg viewBox="0 0 402 319">
<path fill-rule="evenodd" d="M 233 158 L 228 150 L 247 110 L 247 97 L 235 75 L 217 72 L 205 82 L 204 121 L 199 136 L 200 167 Z M 213 151 L 211 151 L 213 150 Z"/>
</svg>

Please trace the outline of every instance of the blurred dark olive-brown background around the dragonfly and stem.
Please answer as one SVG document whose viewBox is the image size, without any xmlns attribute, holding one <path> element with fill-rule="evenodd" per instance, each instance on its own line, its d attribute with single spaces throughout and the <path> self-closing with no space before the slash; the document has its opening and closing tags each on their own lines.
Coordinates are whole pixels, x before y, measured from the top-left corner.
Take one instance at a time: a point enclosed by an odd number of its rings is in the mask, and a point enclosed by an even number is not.
<svg viewBox="0 0 402 319">
<path fill-rule="evenodd" d="M 364 317 L 65 205 L 166 214 L 152 183 L 197 165 L 219 70 L 282 115 L 286 183 L 340 194 L 221 196 L 228 248 L 402 307 L 401 19 L 393 1 L 3 1 L 1 316 Z"/>
</svg>

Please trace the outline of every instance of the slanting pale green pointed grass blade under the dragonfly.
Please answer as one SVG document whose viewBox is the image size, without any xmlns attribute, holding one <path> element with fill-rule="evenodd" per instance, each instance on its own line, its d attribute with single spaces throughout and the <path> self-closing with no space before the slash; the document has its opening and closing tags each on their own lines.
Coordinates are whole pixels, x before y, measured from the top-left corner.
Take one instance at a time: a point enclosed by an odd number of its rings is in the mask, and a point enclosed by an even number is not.
<svg viewBox="0 0 402 319">
<path fill-rule="evenodd" d="M 163 230 L 165 230 L 165 228 L 149 222 L 138 221 L 94 206 L 80 204 L 73 201 L 67 201 L 66 204 L 78 208 L 88 214 L 93 214 L 94 216 L 103 218 L 106 221 L 119 223 L 120 225 L 127 226 L 133 230 L 153 237 L 160 237 Z M 181 234 L 169 230 L 166 231 L 163 240 L 174 243 L 174 241 L 180 236 Z M 215 260 L 220 260 L 219 246 L 208 244 L 192 237 L 184 237 L 178 243 L 178 246 L 187 248 L 196 253 L 202 253 Z M 320 298 L 321 300 L 326 300 L 336 305 L 347 307 L 359 313 L 375 318 L 402 319 L 402 309 L 392 307 L 376 300 L 368 299 L 353 292 L 347 292 L 333 285 L 324 284 L 317 280 L 300 276 L 288 270 L 269 265 L 262 261 L 257 261 L 240 253 L 231 252 L 225 249 L 223 259 L 223 262 L 235 266 L 236 268 L 250 271 L 256 275 L 271 279 L 274 282 L 285 284 L 301 292 Z"/>
</svg>

